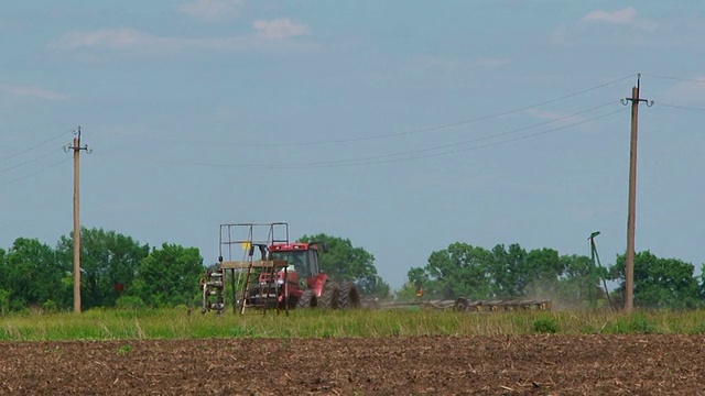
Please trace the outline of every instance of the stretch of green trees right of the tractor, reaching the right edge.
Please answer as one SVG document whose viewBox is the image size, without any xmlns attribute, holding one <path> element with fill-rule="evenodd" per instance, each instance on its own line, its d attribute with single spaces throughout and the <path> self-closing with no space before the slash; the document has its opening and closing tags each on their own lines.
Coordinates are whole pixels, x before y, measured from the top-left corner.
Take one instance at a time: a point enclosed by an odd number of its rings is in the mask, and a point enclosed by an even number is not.
<svg viewBox="0 0 705 396">
<path fill-rule="evenodd" d="M 413 298 L 521 299 L 550 298 L 554 305 L 623 306 L 626 256 L 608 267 L 584 255 L 560 255 L 553 249 L 527 251 L 519 244 L 491 250 L 456 242 L 433 252 L 424 267 L 408 272 L 409 283 L 398 296 Z M 693 264 L 658 257 L 649 251 L 634 255 L 634 306 L 640 308 L 698 308 L 705 300 L 705 278 Z M 607 282 L 616 283 L 614 290 Z"/>
</svg>

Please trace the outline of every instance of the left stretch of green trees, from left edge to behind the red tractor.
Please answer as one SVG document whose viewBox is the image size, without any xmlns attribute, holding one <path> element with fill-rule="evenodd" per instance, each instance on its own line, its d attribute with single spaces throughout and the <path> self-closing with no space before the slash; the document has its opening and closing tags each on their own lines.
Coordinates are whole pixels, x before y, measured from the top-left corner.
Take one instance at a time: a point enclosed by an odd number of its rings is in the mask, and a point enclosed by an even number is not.
<svg viewBox="0 0 705 396">
<path fill-rule="evenodd" d="M 206 265 L 197 248 L 141 244 L 102 229 L 80 231 L 82 309 L 197 306 L 198 280 Z M 390 287 L 377 274 L 375 256 L 347 239 L 325 234 L 302 238 L 329 248 L 321 267 L 336 280 L 354 280 L 368 295 L 387 297 Z M 208 266 L 213 266 L 209 264 Z M 24 309 L 68 310 L 74 298 L 73 232 L 55 248 L 18 238 L 0 249 L 0 314 Z"/>
</svg>

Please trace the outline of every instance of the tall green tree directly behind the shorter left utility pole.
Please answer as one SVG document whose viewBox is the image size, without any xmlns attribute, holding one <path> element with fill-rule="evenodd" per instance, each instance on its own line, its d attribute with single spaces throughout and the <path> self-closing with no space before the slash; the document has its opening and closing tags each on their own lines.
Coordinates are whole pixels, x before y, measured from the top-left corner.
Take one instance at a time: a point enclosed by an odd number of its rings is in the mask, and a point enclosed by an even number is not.
<svg viewBox="0 0 705 396">
<path fill-rule="evenodd" d="M 73 232 L 57 244 L 62 261 L 73 268 Z M 130 293 L 132 280 L 149 245 L 102 229 L 80 229 L 80 293 L 84 309 L 113 307 L 121 293 Z"/>
</svg>

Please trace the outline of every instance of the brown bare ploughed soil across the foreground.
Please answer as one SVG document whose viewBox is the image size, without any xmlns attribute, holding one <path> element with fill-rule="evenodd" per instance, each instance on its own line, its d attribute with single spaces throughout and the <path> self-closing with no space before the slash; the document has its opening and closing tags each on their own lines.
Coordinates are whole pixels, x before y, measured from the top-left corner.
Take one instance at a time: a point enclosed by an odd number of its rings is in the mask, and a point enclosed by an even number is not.
<svg viewBox="0 0 705 396">
<path fill-rule="evenodd" d="M 2 342 L 2 395 L 705 395 L 705 337 Z"/>
</svg>

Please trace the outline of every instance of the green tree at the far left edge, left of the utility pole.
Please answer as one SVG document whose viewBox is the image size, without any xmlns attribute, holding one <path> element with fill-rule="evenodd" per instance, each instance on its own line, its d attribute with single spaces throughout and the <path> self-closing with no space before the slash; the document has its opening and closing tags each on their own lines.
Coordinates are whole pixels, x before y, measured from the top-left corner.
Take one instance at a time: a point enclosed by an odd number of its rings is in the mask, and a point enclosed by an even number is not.
<svg viewBox="0 0 705 396">
<path fill-rule="evenodd" d="M 62 278 L 68 268 L 52 248 L 36 239 L 18 238 L 2 256 L 0 288 L 10 292 L 6 295 L 10 309 L 41 307 L 50 300 L 57 307 L 68 306 L 70 301 L 62 293 Z"/>
</svg>

